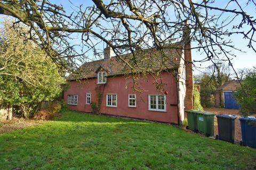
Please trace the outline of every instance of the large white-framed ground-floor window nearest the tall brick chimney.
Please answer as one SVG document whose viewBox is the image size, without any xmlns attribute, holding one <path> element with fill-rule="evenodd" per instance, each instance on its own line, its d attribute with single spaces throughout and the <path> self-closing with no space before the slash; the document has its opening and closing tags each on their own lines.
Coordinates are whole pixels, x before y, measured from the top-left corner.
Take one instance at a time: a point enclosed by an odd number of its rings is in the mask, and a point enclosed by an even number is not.
<svg viewBox="0 0 256 170">
<path fill-rule="evenodd" d="M 166 96 L 148 95 L 148 110 L 166 112 Z"/>
</svg>

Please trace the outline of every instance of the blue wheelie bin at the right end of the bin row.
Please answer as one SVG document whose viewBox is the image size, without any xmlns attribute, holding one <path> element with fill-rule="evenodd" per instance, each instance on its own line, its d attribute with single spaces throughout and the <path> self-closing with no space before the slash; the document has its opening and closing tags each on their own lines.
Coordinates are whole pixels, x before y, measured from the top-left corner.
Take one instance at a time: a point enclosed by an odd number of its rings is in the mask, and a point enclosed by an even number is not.
<svg viewBox="0 0 256 170">
<path fill-rule="evenodd" d="M 256 148 L 256 117 L 240 117 L 242 142 L 244 146 Z"/>
</svg>

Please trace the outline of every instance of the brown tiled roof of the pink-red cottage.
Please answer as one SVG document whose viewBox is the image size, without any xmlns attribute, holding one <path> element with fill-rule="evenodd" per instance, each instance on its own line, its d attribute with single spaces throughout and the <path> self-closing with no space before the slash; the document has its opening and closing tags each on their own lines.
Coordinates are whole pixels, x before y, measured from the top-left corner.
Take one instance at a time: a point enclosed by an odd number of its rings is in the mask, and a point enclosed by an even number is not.
<svg viewBox="0 0 256 170">
<path fill-rule="evenodd" d="M 175 48 L 176 47 L 176 48 Z M 84 63 L 77 69 L 77 75 L 69 75 L 68 80 L 86 79 L 97 77 L 97 71 L 102 68 L 107 72 L 107 76 L 120 75 L 131 72 L 141 72 L 143 69 L 154 70 L 170 70 L 179 67 L 180 58 L 182 56 L 181 45 L 176 45 L 174 48 L 165 48 L 162 52 L 155 48 L 134 52 L 134 56 L 129 54 L 111 57 L 107 59 L 97 60 Z M 142 56 L 145 56 L 142 58 Z M 133 69 L 127 64 L 129 63 Z"/>
</svg>

